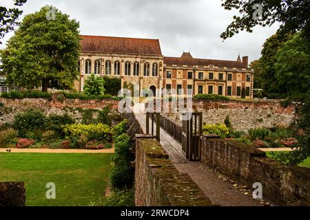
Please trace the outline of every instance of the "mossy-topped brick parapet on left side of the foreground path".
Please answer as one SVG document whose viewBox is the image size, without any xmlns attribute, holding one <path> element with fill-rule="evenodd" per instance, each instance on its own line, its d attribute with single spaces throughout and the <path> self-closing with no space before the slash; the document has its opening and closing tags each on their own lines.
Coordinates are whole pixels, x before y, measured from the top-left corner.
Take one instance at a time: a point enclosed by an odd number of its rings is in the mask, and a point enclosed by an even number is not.
<svg viewBox="0 0 310 220">
<path fill-rule="evenodd" d="M 179 173 L 152 137 L 136 136 L 136 206 L 211 206 L 189 175 Z"/>
</svg>

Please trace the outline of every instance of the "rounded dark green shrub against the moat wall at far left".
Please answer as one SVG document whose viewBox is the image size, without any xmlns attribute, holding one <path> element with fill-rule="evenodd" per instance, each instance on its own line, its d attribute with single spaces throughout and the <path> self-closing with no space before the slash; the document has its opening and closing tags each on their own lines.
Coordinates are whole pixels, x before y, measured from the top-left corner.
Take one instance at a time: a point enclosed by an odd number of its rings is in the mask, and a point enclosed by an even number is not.
<svg viewBox="0 0 310 220">
<path fill-rule="evenodd" d="M 25 113 L 15 115 L 13 128 L 19 136 L 25 135 L 28 130 L 41 129 L 45 123 L 45 115 L 37 109 L 28 109 Z"/>
</svg>

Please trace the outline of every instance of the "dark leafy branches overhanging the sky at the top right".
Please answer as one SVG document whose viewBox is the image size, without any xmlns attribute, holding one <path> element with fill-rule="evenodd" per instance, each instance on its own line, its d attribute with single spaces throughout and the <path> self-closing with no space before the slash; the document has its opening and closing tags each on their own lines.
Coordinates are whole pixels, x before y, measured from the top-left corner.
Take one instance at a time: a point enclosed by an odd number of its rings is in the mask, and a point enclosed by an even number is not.
<svg viewBox="0 0 310 220">
<path fill-rule="evenodd" d="M 256 7 L 257 3 L 261 8 Z M 282 32 L 302 31 L 310 39 L 309 0 L 225 0 L 222 6 L 225 10 L 236 9 L 240 14 L 234 16 L 234 21 L 220 35 L 222 39 L 230 38 L 242 30 L 252 32 L 256 25 L 265 27 L 276 22 L 280 23 Z M 258 14 L 259 9 L 262 14 Z M 255 19 L 257 17 L 261 19 Z"/>
</svg>

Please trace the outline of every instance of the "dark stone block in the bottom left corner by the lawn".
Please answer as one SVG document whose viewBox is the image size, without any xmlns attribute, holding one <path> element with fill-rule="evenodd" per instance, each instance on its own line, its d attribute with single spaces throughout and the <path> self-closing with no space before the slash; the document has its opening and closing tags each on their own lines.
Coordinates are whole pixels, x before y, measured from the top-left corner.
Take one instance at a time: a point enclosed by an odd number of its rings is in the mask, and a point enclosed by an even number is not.
<svg viewBox="0 0 310 220">
<path fill-rule="evenodd" d="M 23 182 L 0 182 L 0 207 L 25 206 Z"/>
</svg>

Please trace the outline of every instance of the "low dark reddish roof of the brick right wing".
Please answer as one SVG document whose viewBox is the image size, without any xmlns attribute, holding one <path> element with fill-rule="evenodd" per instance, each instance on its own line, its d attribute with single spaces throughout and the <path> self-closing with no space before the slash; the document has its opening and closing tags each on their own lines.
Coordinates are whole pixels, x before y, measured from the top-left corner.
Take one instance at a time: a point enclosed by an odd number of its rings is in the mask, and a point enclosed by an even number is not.
<svg viewBox="0 0 310 220">
<path fill-rule="evenodd" d="M 178 65 L 183 66 L 187 65 L 188 67 L 192 66 L 208 66 L 214 65 L 216 67 L 227 67 L 227 68 L 246 68 L 242 63 L 238 61 L 221 61 L 221 60 L 210 60 L 210 59 L 201 59 L 201 58 L 189 58 L 186 57 L 164 57 L 165 65 Z"/>
</svg>

